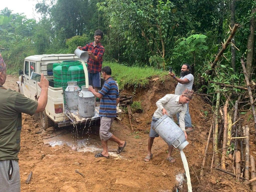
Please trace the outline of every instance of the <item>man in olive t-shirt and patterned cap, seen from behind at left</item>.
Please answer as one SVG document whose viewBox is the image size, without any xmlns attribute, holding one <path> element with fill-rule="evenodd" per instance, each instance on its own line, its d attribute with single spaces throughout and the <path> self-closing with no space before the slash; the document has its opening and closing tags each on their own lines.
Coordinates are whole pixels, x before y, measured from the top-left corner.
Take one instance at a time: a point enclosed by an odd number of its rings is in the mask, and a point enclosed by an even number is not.
<svg viewBox="0 0 256 192">
<path fill-rule="evenodd" d="M 45 110 L 48 80 L 41 74 L 41 88 L 37 101 L 3 87 L 6 80 L 6 64 L 0 54 L 0 191 L 20 192 L 19 158 L 22 113 L 33 115 Z"/>
</svg>

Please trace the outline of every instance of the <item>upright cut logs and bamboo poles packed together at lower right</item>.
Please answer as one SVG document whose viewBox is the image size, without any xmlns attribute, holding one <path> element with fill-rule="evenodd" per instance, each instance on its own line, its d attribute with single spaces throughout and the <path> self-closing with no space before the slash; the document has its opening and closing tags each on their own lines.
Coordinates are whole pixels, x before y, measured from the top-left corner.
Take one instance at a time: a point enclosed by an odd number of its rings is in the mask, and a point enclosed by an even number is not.
<svg viewBox="0 0 256 192">
<path fill-rule="evenodd" d="M 255 159 L 250 154 L 249 126 L 242 126 L 241 119 L 238 118 L 238 107 L 240 103 L 243 103 L 240 102 L 241 95 L 230 111 L 228 111 L 229 99 L 228 97 L 222 109 L 219 108 L 219 103 L 216 103 L 200 176 L 203 176 L 206 171 L 205 164 L 208 147 L 212 139 L 213 153 L 211 154 L 213 155 L 211 159 L 211 169 L 215 168 L 232 175 L 238 182 L 241 182 L 242 179 L 244 184 L 251 185 L 252 191 L 256 191 Z M 228 163 L 230 160 L 232 164 Z"/>
</svg>

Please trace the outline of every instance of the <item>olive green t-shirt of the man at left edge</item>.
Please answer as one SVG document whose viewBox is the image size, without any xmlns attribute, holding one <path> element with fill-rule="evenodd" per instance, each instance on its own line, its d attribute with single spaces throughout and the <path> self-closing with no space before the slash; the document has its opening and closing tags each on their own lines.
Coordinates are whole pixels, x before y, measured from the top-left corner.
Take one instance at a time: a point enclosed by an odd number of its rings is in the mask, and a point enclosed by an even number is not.
<svg viewBox="0 0 256 192">
<path fill-rule="evenodd" d="M 18 161 L 21 113 L 33 115 L 38 103 L 25 95 L 0 86 L 0 161 Z"/>
</svg>

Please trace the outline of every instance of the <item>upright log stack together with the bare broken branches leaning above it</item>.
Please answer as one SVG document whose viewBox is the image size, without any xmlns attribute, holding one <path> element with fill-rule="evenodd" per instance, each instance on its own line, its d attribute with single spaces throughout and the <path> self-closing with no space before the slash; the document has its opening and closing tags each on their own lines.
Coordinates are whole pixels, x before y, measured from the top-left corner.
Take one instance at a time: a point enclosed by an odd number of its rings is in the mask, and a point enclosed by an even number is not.
<svg viewBox="0 0 256 192">
<path fill-rule="evenodd" d="M 238 27 L 239 24 L 234 25 L 229 38 L 225 44 L 222 45 L 222 49 L 212 63 L 211 70 L 206 73 L 213 76 L 218 75 L 217 73 L 214 73 L 214 69 Z M 243 68 L 246 87 L 210 81 L 210 83 L 216 84 L 215 91 L 217 97 L 212 123 L 209 127 L 209 135 L 200 169 L 200 176 L 202 177 L 204 175 L 205 171 L 207 171 L 207 167 L 216 169 L 234 176 L 238 182 L 241 182 L 242 179 L 244 184 L 251 185 L 252 191 L 256 192 L 255 159 L 250 154 L 249 145 L 250 139 L 251 141 L 255 141 L 256 138 L 255 84 L 250 82 L 250 79 L 248 78 L 243 57 L 241 57 L 241 65 Z M 209 83 L 205 81 L 200 74 L 198 74 L 198 76 L 201 78 L 201 85 L 207 85 Z M 222 92 L 220 87 L 226 88 L 229 94 L 227 94 L 227 92 Z M 239 97 L 237 97 L 238 95 L 236 92 L 229 88 L 240 89 L 241 94 Z M 222 97 L 223 95 L 226 97 L 226 102 L 223 102 L 223 104 L 220 102 L 220 95 L 222 95 Z M 233 102 L 232 99 L 235 102 Z M 242 111 L 251 111 L 254 123 L 248 123 L 246 119 L 241 119 L 241 114 L 243 114 L 241 113 Z M 242 121 L 246 122 L 247 125 L 242 126 Z M 254 134 L 251 135 L 254 137 L 250 137 L 250 125 L 254 127 Z M 208 153 L 210 141 L 212 141 L 212 153 Z M 208 156 L 207 153 L 212 155 Z M 207 162 L 207 157 L 208 159 L 211 158 L 211 165 L 206 167 L 205 164 Z"/>
</svg>

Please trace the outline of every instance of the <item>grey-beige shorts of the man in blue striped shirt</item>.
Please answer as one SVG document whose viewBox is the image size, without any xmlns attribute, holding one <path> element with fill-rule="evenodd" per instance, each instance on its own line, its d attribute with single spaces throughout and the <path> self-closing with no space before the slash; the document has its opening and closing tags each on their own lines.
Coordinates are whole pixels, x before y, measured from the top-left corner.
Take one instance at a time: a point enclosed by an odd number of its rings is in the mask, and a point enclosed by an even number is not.
<svg viewBox="0 0 256 192">
<path fill-rule="evenodd" d="M 112 137 L 110 133 L 110 126 L 114 121 L 114 117 L 100 117 L 100 139 L 103 141 L 108 141 Z"/>
</svg>

